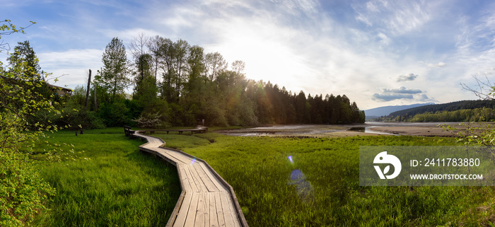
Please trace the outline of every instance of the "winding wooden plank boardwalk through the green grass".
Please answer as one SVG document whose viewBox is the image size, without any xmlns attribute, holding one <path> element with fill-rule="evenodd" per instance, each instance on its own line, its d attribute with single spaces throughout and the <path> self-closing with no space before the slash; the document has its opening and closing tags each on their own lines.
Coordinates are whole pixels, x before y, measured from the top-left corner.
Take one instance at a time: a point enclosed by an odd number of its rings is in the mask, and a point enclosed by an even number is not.
<svg viewBox="0 0 495 227">
<path fill-rule="evenodd" d="M 148 141 L 139 150 L 177 167 L 182 193 L 167 226 L 248 226 L 231 185 L 208 163 L 188 153 L 163 148 L 165 142 L 154 136 L 139 131 L 134 136 Z"/>
</svg>

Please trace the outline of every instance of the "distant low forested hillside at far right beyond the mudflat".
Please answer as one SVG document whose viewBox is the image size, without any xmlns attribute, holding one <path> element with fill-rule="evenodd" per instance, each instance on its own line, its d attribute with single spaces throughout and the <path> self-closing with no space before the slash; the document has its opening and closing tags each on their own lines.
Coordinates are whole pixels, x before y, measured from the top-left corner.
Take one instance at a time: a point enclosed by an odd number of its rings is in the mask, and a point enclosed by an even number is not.
<svg viewBox="0 0 495 227">
<path fill-rule="evenodd" d="M 495 120 L 495 100 L 462 100 L 424 105 L 375 118 L 383 122 L 479 122 Z"/>
</svg>

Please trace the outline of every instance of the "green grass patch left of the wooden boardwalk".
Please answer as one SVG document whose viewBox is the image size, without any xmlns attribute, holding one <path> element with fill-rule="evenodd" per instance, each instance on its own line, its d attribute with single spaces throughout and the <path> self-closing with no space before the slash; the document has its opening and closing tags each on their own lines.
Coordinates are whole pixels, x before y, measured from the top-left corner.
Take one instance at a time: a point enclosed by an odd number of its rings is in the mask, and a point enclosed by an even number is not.
<svg viewBox="0 0 495 227">
<path fill-rule="evenodd" d="M 140 153 L 122 128 L 50 136 L 66 151 L 74 144 L 77 158 L 38 164 L 57 194 L 35 226 L 165 226 L 180 194 L 175 166 Z"/>
</svg>

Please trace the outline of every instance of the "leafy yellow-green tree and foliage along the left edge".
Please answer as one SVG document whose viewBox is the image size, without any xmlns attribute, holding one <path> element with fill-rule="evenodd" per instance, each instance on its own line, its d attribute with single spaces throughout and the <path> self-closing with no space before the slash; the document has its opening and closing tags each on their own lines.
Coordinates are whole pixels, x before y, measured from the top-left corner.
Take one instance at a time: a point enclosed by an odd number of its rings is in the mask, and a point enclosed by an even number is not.
<svg viewBox="0 0 495 227">
<path fill-rule="evenodd" d="M 12 32 L 19 32 L 10 21 L 5 22 L 0 25 L 1 31 L 12 28 Z M 23 47 L 29 47 L 28 42 Z M 35 171 L 28 155 L 45 132 L 57 127 L 29 119 L 37 112 L 52 116 L 59 116 L 60 112 L 54 107 L 57 103 L 37 93 L 37 88 L 45 84 L 38 79 L 42 75 L 28 66 L 21 55 L 11 55 L 7 67 L 0 62 L 0 226 L 29 224 L 46 209 L 48 196 L 54 194 L 54 189 Z M 37 62 L 35 57 L 32 60 Z M 50 153 L 47 157 L 57 158 Z"/>
</svg>

